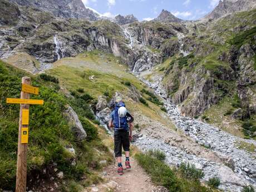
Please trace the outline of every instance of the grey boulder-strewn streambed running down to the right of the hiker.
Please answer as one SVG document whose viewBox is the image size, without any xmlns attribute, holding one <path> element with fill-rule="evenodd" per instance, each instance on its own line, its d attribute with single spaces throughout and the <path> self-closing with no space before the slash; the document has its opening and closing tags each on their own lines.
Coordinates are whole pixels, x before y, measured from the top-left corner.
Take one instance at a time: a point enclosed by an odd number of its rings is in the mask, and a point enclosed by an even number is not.
<svg viewBox="0 0 256 192">
<path fill-rule="evenodd" d="M 217 158 L 191 153 L 190 147 L 184 147 L 184 145 L 173 146 L 170 141 L 163 139 L 170 135 L 170 131 L 165 129 L 158 131 L 158 136 L 154 131 L 147 131 L 140 137 L 136 145 L 141 150 L 164 151 L 166 163 L 170 165 L 179 165 L 183 161 L 193 163 L 204 171 L 203 181 L 218 176 L 221 179 L 220 189 L 224 191 L 241 191 L 243 186 L 249 184 L 256 188 L 256 152 L 241 150 L 238 147 L 239 142 L 256 145 L 255 141 L 240 139 L 204 122 L 181 116 L 176 106 L 169 99 L 165 99 L 166 95 L 160 81 L 156 83 L 142 81 L 163 98 L 168 116 L 176 127 L 190 137 L 195 144 L 208 148 L 209 152 Z M 169 140 L 172 139 L 175 140 L 173 137 Z"/>
</svg>

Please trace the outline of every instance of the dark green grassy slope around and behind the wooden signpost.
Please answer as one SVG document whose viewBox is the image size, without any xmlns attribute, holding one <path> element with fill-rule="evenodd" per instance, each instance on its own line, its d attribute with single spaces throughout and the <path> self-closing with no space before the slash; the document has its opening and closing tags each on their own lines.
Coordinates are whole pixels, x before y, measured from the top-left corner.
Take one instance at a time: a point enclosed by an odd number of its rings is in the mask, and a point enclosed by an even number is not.
<svg viewBox="0 0 256 192">
<path fill-rule="evenodd" d="M 31 75 L 0 61 L 0 190 L 13 189 L 15 185 L 19 106 L 7 105 L 6 97 L 19 97 L 22 76 Z M 78 183 L 87 186 L 96 182 L 98 177 L 94 171 L 101 169 L 99 160 L 110 161 L 111 155 L 97 134 L 99 128 L 88 120 L 88 117 L 91 120 L 93 118 L 88 113 L 79 112 L 88 111 L 87 108 L 82 108 L 88 104 L 78 102 L 78 99 L 67 99 L 59 93 L 60 87 L 56 83 L 42 81 L 36 76 L 32 76 L 32 82 L 34 86 L 40 87 L 40 95 L 32 96 L 32 99 L 43 99 L 45 104 L 30 107 L 28 178 L 31 177 L 32 182 L 35 182 L 33 173 L 40 173 L 43 168 L 47 169 L 49 165 L 57 163 L 56 168 L 63 171 L 65 179 L 68 179 L 66 184 L 60 184 L 61 191 L 72 190 L 70 186 L 78 189 Z M 78 143 L 63 117 L 63 110 L 68 103 L 76 105 L 80 102 L 83 104 L 81 109 L 75 109 L 90 137 L 87 141 Z M 65 147 L 73 147 L 76 150 L 75 166 L 71 166 L 74 156 L 67 152 Z M 94 149 L 100 151 L 101 155 Z M 84 175 L 86 179 L 81 180 Z M 72 185 L 69 184 L 70 181 Z M 33 184 L 28 182 L 28 186 Z"/>
</svg>

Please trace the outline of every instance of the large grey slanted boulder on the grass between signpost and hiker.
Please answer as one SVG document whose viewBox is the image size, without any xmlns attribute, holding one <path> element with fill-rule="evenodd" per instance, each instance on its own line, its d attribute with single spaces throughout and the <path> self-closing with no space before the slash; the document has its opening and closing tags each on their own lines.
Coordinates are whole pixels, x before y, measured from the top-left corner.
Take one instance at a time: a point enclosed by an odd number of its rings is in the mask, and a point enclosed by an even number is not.
<svg viewBox="0 0 256 192">
<path fill-rule="evenodd" d="M 66 106 L 65 117 L 71 127 L 71 130 L 75 133 L 77 141 L 85 139 L 85 137 L 87 136 L 86 132 L 83 129 L 83 126 L 76 112 L 69 105 Z"/>
</svg>

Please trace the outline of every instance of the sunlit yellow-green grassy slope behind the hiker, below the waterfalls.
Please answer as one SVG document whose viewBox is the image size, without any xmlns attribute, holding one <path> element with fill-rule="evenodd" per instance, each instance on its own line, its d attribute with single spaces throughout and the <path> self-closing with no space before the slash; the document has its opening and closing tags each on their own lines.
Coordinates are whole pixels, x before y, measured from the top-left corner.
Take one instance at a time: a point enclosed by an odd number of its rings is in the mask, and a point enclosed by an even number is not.
<svg viewBox="0 0 256 192">
<path fill-rule="evenodd" d="M 74 58 L 64 58 L 57 61 L 55 67 L 48 73 L 58 77 L 60 85 L 68 90 L 76 91 L 77 88 L 83 88 L 94 99 L 106 92 L 112 96 L 119 91 L 124 95 L 127 107 L 132 113 L 139 112 L 166 126 L 174 127 L 159 106 L 147 101 L 149 104 L 147 107 L 130 98 L 128 93 L 130 86 L 123 85 L 122 82 L 131 82 L 139 92 L 146 86 L 127 71 L 127 67 L 119 58 L 111 54 L 93 51 L 82 53 Z M 93 80 L 90 81 L 89 77 L 93 75 Z M 146 94 L 142 96 L 147 98 Z"/>
</svg>

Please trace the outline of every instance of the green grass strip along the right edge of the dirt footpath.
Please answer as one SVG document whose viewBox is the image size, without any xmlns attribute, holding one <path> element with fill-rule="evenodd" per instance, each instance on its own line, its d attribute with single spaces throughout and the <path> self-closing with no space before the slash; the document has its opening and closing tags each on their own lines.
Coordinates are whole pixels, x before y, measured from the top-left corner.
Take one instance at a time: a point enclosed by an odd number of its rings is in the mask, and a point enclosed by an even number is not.
<svg viewBox="0 0 256 192">
<path fill-rule="evenodd" d="M 151 176 L 151 179 L 155 184 L 164 186 L 170 192 L 214 191 L 214 189 L 211 189 L 210 187 L 201 185 L 200 180 L 195 179 L 193 174 L 193 179 L 183 175 L 190 171 L 184 171 L 184 169 L 172 169 L 163 161 L 150 154 L 150 152 L 136 154 L 135 158 L 142 168 Z M 200 174 L 195 175 L 196 177 L 201 176 Z"/>
</svg>

